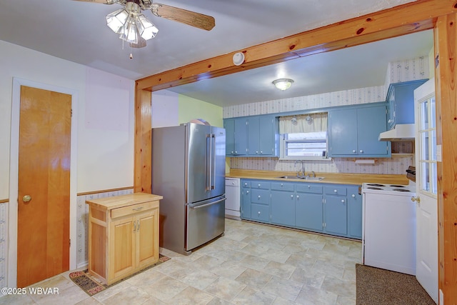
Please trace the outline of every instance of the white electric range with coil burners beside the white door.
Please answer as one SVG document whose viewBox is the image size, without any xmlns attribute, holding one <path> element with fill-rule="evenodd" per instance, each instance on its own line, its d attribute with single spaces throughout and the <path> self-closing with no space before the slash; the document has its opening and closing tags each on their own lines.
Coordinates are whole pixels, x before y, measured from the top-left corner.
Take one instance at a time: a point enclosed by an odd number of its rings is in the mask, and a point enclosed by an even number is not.
<svg viewBox="0 0 457 305">
<path fill-rule="evenodd" d="M 363 264 L 415 275 L 416 183 L 365 183 L 362 195 Z"/>
</svg>

